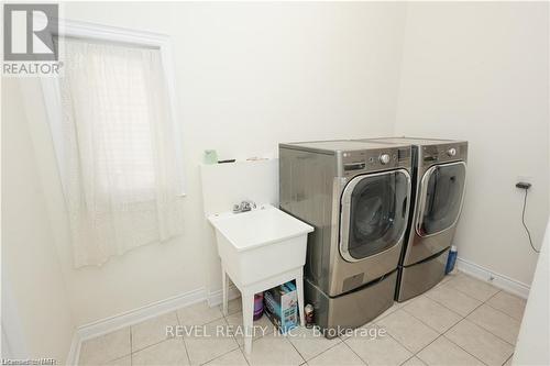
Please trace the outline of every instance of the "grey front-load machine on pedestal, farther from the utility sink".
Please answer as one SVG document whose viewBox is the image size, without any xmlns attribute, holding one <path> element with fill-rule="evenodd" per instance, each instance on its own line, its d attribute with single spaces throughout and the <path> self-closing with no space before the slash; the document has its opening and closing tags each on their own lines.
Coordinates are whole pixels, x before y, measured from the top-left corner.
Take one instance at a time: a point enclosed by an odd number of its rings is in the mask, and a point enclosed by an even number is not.
<svg viewBox="0 0 550 366">
<path fill-rule="evenodd" d="M 396 300 L 405 301 L 444 277 L 464 197 L 468 142 L 414 137 L 362 141 L 413 146 L 414 204 L 396 289 Z"/>
</svg>

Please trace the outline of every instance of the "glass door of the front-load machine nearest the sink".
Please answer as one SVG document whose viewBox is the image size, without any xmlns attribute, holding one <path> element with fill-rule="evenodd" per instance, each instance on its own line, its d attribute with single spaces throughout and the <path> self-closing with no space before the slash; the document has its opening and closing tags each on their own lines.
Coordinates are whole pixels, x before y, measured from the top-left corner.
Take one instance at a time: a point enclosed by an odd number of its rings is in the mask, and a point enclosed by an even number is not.
<svg viewBox="0 0 550 366">
<path fill-rule="evenodd" d="M 397 245 L 407 228 L 409 195 L 405 169 L 353 178 L 342 193 L 342 257 L 358 262 Z"/>
</svg>

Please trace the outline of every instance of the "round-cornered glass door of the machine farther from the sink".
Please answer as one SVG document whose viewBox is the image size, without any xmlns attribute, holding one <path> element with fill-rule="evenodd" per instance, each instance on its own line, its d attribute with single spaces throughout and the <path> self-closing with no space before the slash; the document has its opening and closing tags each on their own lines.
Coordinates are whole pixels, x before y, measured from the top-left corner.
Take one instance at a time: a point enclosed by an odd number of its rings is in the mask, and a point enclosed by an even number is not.
<svg viewBox="0 0 550 366">
<path fill-rule="evenodd" d="M 441 233 L 457 223 L 466 179 L 463 162 L 436 165 L 422 177 L 416 231 L 420 236 Z"/>
</svg>

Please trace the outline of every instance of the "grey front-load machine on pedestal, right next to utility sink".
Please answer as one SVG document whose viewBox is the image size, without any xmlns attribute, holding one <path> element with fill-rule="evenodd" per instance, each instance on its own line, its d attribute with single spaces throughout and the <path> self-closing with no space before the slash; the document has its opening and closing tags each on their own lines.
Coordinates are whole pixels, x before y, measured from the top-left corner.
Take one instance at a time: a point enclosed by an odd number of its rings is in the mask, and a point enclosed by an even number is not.
<svg viewBox="0 0 550 366">
<path fill-rule="evenodd" d="M 365 324 L 394 302 L 410 164 L 407 144 L 279 144 L 280 208 L 315 226 L 305 296 L 329 337 Z"/>
</svg>

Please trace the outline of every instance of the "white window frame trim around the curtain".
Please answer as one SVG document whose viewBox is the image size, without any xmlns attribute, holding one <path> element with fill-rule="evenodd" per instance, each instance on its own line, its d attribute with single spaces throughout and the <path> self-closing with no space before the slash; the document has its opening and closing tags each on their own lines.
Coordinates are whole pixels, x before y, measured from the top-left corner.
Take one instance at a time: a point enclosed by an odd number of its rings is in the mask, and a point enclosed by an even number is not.
<svg viewBox="0 0 550 366">
<path fill-rule="evenodd" d="M 176 85 L 175 85 L 175 67 L 174 55 L 172 48 L 172 40 L 169 35 L 129 30 L 123 27 L 116 27 L 110 25 L 87 23 L 73 20 L 59 19 L 59 38 L 74 37 L 82 38 L 91 42 L 110 43 L 110 44 L 127 44 L 135 45 L 139 47 L 157 48 L 161 53 L 161 60 L 165 85 L 168 93 L 168 103 L 172 115 L 172 123 L 175 131 L 175 146 L 176 159 L 179 167 L 179 178 L 182 181 L 180 197 L 186 196 L 186 181 L 184 176 L 184 148 L 183 148 L 183 129 L 178 119 L 176 108 Z M 63 60 L 64 49 L 63 42 L 58 42 L 59 46 L 59 60 Z M 61 70 L 63 73 L 63 69 Z M 54 143 L 54 149 L 57 159 L 57 166 L 61 174 L 62 185 L 66 188 L 64 181 L 66 177 L 63 157 L 67 154 L 66 146 L 64 146 L 63 138 L 63 107 L 61 99 L 59 79 L 57 77 L 43 77 L 41 78 L 42 93 L 44 96 L 44 103 L 46 108 L 47 120 L 50 122 L 50 131 Z"/>
</svg>

